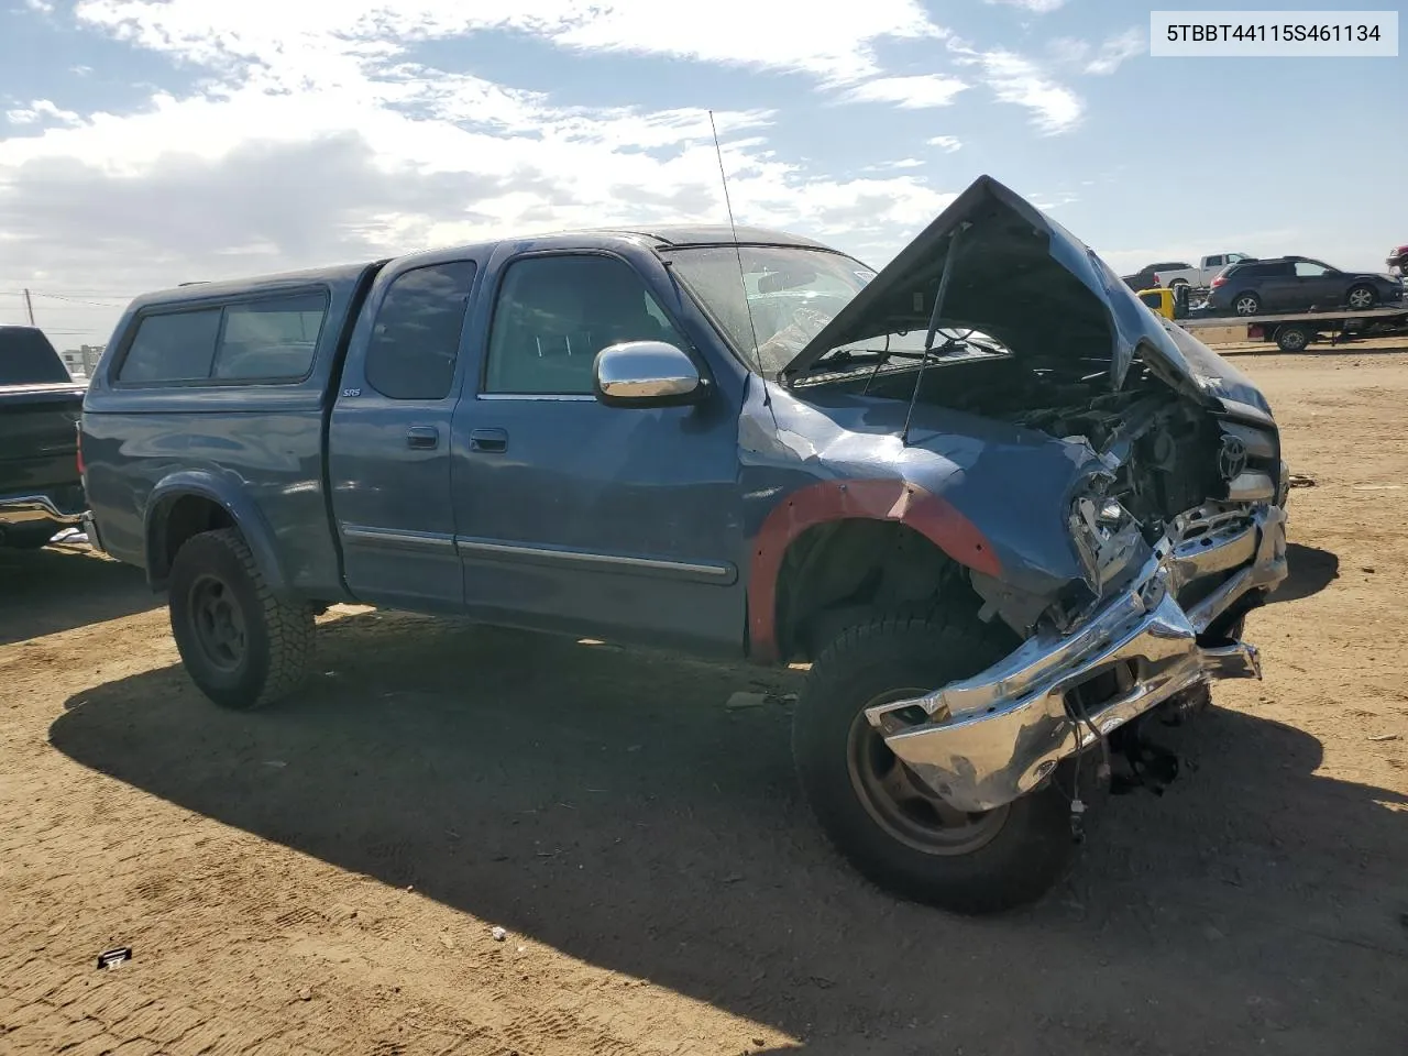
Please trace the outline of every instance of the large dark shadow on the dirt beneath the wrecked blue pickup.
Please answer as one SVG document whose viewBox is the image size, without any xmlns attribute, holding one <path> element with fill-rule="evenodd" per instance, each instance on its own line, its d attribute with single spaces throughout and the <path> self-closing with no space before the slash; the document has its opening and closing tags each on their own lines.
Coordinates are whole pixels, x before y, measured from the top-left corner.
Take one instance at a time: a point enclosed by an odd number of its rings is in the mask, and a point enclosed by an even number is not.
<svg viewBox="0 0 1408 1056">
<path fill-rule="evenodd" d="M 1312 736 L 1231 711 L 1171 731 L 1195 772 L 1110 800 L 1039 905 L 966 919 L 824 843 L 790 770 L 797 677 L 369 612 L 322 629 L 280 708 L 220 711 L 169 667 L 76 694 L 51 739 L 810 1053 L 1247 1052 L 1269 1018 L 1297 1052 L 1401 1041 L 1404 798 L 1315 776 Z"/>
</svg>

